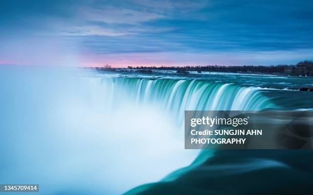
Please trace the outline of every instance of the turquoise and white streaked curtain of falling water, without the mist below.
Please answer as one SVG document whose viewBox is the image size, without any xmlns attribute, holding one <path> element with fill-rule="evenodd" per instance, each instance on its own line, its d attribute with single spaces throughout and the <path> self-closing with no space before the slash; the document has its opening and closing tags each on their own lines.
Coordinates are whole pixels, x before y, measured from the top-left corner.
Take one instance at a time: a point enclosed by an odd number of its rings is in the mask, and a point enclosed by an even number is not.
<svg viewBox="0 0 313 195">
<path fill-rule="evenodd" d="M 176 116 L 180 122 L 184 118 L 184 110 L 260 110 L 275 107 L 256 88 L 232 83 L 127 77 L 98 79 L 99 88 L 113 97 L 111 105 L 117 105 L 127 97 L 137 105 L 157 105 L 164 112 Z"/>
</svg>

